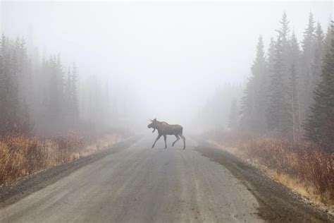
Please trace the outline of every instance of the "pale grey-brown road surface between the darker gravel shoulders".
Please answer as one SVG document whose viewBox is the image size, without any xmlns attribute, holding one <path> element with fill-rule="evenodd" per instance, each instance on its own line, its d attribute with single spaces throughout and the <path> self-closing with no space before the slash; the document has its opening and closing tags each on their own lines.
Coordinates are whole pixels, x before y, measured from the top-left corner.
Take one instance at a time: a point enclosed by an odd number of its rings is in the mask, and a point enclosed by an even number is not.
<svg viewBox="0 0 334 223">
<path fill-rule="evenodd" d="M 153 138 L 87 164 L 13 205 L 0 222 L 261 222 L 252 193 L 187 139 Z"/>
</svg>

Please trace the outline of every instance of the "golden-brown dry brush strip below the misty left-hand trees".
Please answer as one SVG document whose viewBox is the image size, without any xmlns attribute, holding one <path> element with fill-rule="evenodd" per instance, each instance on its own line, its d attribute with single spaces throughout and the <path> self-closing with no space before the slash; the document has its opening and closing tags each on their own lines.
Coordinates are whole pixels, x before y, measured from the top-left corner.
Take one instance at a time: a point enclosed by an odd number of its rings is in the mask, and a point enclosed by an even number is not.
<svg viewBox="0 0 334 223">
<path fill-rule="evenodd" d="M 124 135 L 112 131 L 85 137 L 70 133 L 44 139 L 18 135 L 0 138 L 0 184 L 89 155 L 118 143 Z"/>
</svg>

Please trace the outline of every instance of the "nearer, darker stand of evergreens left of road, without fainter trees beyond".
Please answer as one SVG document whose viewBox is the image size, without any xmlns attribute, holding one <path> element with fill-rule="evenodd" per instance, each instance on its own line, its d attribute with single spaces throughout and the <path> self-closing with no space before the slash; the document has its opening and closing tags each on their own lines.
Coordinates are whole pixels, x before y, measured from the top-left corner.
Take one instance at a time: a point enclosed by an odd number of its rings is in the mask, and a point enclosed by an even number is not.
<svg viewBox="0 0 334 223">
<path fill-rule="evenodd" d="M 64 80 L 60 55 L 39 61 L 37 54 L 27 56 L 23 37 L 0 39 L 0 136 L 54 135 L 79 122 L 78 69 Z"/>
</svg>

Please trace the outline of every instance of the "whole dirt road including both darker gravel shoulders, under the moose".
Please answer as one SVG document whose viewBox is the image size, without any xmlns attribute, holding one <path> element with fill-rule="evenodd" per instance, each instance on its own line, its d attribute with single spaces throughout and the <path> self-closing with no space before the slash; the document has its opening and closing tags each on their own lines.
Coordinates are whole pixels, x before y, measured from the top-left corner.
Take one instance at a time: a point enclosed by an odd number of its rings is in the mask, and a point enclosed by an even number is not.
<svg viewBox="0 0 334 223">
<path fill-rule="evenodd" d="M 153 140 L 131 138 L 0 188 L 0 222 L 330 221 L 208 143 L 164 150 Z"/>
</svg>

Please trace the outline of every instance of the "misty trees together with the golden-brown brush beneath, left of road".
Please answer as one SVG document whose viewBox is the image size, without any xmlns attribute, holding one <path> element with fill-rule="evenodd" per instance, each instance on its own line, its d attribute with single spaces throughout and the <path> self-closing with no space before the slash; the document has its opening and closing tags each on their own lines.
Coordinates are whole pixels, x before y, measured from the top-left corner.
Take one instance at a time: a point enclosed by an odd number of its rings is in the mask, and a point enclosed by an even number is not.
<svg viewBox="0 0 334 223">
<path fill-rule="evenodd" d="M 32 38 L 0 38 L 0 184 L 70 162 L 130 133 L 128 102 L 97 76 L 80 78 L 60 54 L 39 56 Z M 123 112 L 118 112 L 122 109 Z"/>
</svg>

